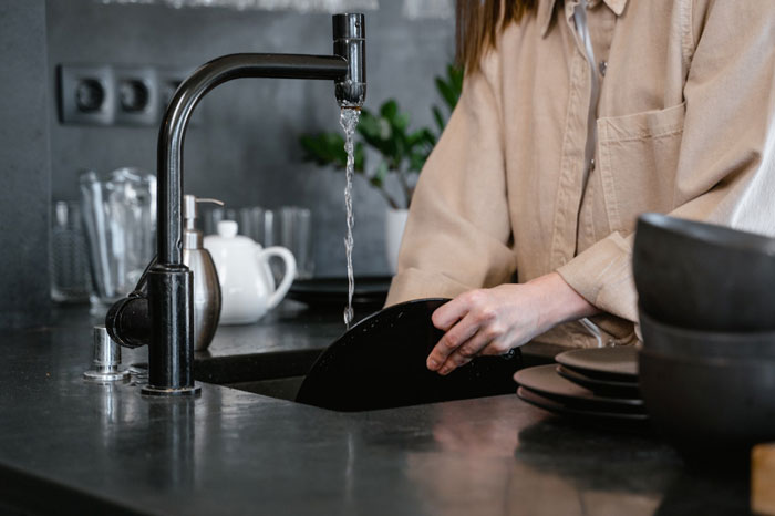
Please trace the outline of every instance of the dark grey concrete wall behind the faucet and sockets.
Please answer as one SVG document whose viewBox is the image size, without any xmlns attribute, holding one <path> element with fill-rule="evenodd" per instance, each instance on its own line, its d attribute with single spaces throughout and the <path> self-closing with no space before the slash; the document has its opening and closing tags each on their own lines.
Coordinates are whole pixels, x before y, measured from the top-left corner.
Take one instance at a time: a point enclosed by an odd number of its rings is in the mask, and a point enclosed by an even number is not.
<svg viewBox="0 0 775 516">
<path fill-rule="evenodd" d="M 431 124 L 433 86 L 453 54 L 454 22 L 410 21 L 402 2 L 382 0 L 366 13 L 368 106 L 396 97 L 416 124 Z M 231 52 L 330 53 L 328 14 L 235 11 L 223 8 L 104 6 L 50 0 L 49 95 L 61 63 L 196 66 Z M 312 209 L 317 275 L 343 276 L 343 174 L 301 161 L 302 132 L 338 130 L 328 82 L 244 80 L 219 86 L 197 107 L 185 146 L 185 190 L 231 206 L 304 205 Z M 156 128 L 61 125 L 52 110 L 54 198 L 76 198 L 82 168 L 155 171 Z M 385 204 L 363 180 L 354 193 L 354 267 L 384 274 Z"/>
</svg>

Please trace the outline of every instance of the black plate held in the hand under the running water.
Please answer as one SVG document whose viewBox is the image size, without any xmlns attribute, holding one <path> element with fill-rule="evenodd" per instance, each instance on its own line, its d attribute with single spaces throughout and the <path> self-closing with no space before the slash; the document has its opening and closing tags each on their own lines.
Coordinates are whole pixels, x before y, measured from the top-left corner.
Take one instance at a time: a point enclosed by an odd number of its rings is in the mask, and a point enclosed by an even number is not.
<svg viewBox="0 0 775 516">
<path fill-rule="evenodd" d="M 297 401 L 364 411 L 513 393 L 521 354 L 479 357 L 446 376 L 425 360 L 443 333 L 431 314 L 447 299 L 395 305 L 353 326 L 317 360 Z"/>
</svg>

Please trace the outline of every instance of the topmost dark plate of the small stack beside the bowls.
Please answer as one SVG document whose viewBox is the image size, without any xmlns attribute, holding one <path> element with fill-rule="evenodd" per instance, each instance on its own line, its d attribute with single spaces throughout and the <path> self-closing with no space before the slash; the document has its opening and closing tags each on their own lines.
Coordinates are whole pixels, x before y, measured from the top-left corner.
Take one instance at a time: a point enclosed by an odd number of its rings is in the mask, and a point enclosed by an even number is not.
<svg viewBox="0 0 775 516">
<path fill-rule="evenodd" d="M 587 376 L 638 383 L 638 349 L 634 345 L 565 351 L 555 360 Z"/>
</svg>

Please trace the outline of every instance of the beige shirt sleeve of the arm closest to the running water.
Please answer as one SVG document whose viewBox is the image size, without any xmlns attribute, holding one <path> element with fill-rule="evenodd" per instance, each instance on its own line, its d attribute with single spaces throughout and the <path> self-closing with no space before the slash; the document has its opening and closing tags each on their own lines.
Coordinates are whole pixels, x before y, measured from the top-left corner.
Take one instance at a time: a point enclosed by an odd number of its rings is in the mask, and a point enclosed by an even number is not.
<svg viewBox="0 0 775 516">
<path fill-rule="evenodd" d="M 516 258 L 497 104 L 485 71 L 466 76 L 420 175 L 388 305 L 454 297 L 512 279 Z"/>
</svg>

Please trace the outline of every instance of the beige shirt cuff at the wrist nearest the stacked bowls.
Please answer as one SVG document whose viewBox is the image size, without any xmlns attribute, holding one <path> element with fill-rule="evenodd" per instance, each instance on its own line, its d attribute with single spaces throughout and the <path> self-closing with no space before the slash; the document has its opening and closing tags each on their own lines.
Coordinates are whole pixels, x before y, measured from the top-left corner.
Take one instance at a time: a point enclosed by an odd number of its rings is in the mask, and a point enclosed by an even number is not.
<svg viewBox="0 0 775 516">
<path fill-rule="evenodd" d="M 600 310 L 638 321 L 632 241 L 632 236 L 623 238 L 619 233 L 613 233 L 576 256 L 557 272 Z"/>
</svg>

